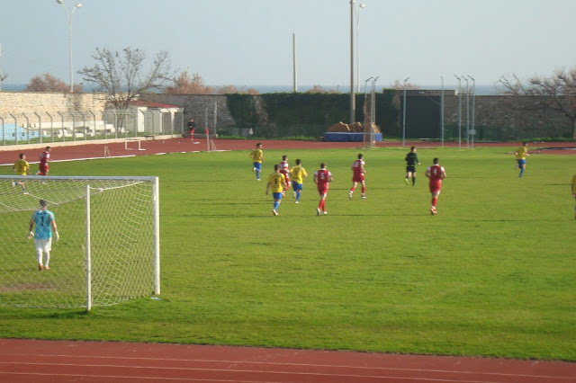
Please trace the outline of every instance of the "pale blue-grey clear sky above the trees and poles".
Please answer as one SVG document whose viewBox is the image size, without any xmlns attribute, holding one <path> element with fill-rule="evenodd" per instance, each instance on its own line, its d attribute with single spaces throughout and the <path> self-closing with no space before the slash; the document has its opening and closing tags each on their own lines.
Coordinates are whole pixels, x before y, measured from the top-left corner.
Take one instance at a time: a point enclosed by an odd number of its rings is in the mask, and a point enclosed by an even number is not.
<svg viewBox="0 0 576 383">
<path fill-rule="evenodd" d="M 75 70 L 95 48 L 169 52 L 172 65 L 206 85 L 350 85 L 349 0 L 79 0 L 72 18 Z M 68 10 L 76 5 L 65 0 Z M 356 0 L 360 83 L 479 85 L 500 76 L 552 75 L 576 66 L 576 0 Z M 356 36 L 356 28 L 355 28 Z M 2 0 L 4 84 L 50 73 L 66 83 L 67 16 L 56 0 Z M 356 49 L 355 49 L 356 51 Z M 355 52 L 356 53 L 356 52 Z M 355 70 L 356 72 L 356 70 Z M 75 82 L 81 83 L 75 75 Z"/>
</svg>

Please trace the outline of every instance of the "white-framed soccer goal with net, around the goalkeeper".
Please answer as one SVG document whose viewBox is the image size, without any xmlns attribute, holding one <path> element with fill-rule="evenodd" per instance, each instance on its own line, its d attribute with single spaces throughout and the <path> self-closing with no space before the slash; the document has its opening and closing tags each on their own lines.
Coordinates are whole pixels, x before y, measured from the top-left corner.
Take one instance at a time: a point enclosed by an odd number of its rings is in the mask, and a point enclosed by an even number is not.
<svg viewBox="0 0 576 383">
<path fill-rule="evenodd" d="M 60 239 L 39 270 L 32 213 L 48 202 Z M 108 306 L 160 293 L 157 177 L 0 175 L 0 305 Z"/>
</svg>

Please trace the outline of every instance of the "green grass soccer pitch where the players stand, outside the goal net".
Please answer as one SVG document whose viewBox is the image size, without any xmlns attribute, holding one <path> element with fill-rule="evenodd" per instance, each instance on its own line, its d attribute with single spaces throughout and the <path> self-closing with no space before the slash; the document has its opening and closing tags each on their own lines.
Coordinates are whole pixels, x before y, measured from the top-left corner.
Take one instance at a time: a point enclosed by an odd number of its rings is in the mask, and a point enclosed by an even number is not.
<svg viewBox="0 0 576 383">
<path fill-rule="evenodd" d="M 309 174 L 328 164 L 325 217 L 311 176 L 274 217 L 245 152 L 58 163 L 52 175 L 160 176 L 161 299 L 0 307 L 0 337 L 576 361 L 576 156 L 530 156 L 518 179 L 512 148 L 420 149 L 412 187 L 407 151 L 365 152 L 368 198 L 348 200 L 358 150 L 266 150 L 266 177 L 284 154 Z M 432 217 L 434 156 L 448 178 Z"/>
</svg>

